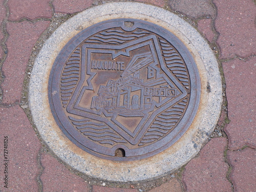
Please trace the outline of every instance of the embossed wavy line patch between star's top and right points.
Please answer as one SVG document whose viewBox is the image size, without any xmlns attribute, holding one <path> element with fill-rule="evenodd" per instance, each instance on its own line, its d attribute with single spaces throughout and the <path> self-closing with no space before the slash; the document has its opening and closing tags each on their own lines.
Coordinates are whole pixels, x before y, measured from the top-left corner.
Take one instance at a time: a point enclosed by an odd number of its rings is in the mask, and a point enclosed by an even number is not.
<svg viewBox="0 0 256 192">
<path fill-rule="evenodd" d="M 167 68 L 189 90 L 189 78 L 182 58 L 166 41 L 160 39 L 159 42 Z"/>
</svg>

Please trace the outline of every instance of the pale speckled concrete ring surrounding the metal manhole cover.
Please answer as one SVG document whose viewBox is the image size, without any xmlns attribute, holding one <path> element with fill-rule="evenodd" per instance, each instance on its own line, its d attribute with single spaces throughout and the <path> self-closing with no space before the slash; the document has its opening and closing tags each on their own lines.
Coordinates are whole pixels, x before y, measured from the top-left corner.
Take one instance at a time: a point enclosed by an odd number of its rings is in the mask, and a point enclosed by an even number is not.
<svg viewBox="0 0 256 192">
<path fill-rule="evenodd" d="M 77 29 L 85 29 L 113 18 L 147 20 L 174 33 L 195 58 L 201 78 L 200 108 L 188 131 L 162 153 L 134 162 L 103 160 L 80 150 L 59 130 L 48 104 L 48 77 L 62 47 L 79 32 Z M 207 92 L 209 86 L 210 92 Z M 209 134 L 214 131 L 221 105 L 222 82 L 218 62 L 204 38 L 177 15 L 142 3 L 104 4 L 87 9 L 67 20 L 51 35 L 37 55 L 29 85 L 29 106 L 33 120 L 49 148 L 63 162 L 82 174 L 107 181 L 147 180 L 180 168 L 200 151 Z"/>
</svg>

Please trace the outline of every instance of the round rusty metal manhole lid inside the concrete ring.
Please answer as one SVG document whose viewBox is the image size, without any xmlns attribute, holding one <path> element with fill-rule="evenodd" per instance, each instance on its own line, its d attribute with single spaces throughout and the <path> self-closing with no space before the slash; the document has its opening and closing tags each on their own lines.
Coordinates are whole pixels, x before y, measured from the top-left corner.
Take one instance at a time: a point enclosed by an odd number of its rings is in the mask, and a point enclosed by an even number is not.
<svg viewBox="0 0 256 192">
<path fill-rule="evenodd" d="M 82 150 L 116 161 L 143 159 L 174 144 L 200 100 L 196 63 L 155 24 L 112 19 L 61 50 L 48 86 L 52 114 Z"/>
</svg>

